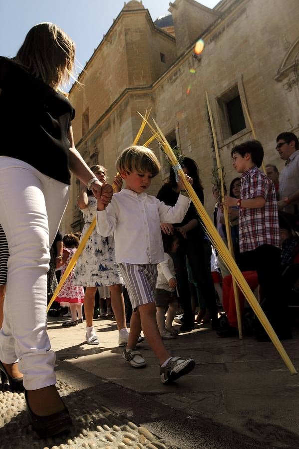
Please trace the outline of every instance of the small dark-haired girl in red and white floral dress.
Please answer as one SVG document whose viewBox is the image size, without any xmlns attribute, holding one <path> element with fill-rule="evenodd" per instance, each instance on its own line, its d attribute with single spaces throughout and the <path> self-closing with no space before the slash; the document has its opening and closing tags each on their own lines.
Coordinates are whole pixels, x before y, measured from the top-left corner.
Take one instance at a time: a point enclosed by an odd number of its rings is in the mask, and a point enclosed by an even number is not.
<svg viewBox="0 0 299 449">
<path fill-rule="evenodd" d="M 77 250 L 79 239 L 74 234 L 65 234 L 63 237 L 63 254 L 62 254 L 62 268 L 61 276 L 67 268 L 70 259 Z M 64 282 L 60 292 L 55 301 L 59 302 L 62 307 L 69 306 L 71 312 L 71 319 L 65 321 L 62 326 L 76 326 L 78 323 L 83 323 L 82 304 L 84 300 L 84 289 L 74 285 L 74 268 L 71 270 L 69 276 Z M 78 314 L 78 318 L 77 318 Z"/>
</svg>

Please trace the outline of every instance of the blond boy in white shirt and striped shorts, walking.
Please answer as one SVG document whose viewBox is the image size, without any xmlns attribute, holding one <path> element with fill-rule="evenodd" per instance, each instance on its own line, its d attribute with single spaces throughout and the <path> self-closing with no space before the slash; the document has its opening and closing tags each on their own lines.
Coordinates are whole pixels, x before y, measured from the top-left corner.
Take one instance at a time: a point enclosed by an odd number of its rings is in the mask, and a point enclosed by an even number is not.
<svg viewBox="0 0 299 449">
<path fill-rule="evenodd" d="M 135 368 L 146 365 L 140 352 L 134 350 L 142 330 L 159 360 L 161 381 L 169 383 L 193 370 L 195 362 L 171 357 L 157 326 L 153 292 L 157 264 L 164 260 L 160 222 L 180 223 L 190 200 L 180 195 L 172 208 L 145 193 L 160 170 L 155 154 L 145 147 L 132 146 L 124 150 L 116 161 L 116 168 L 125 187 L 113 195 L 106 209 L 98 201 L 96 219 L 99 234 L 114 233 L 116 262 L 133 308 L 129 339 L 122 356 Z M 191 178 L 187 179 L 192 182 Z M 182 183 L 179 185 L 183 190 Z"/>
</svg>

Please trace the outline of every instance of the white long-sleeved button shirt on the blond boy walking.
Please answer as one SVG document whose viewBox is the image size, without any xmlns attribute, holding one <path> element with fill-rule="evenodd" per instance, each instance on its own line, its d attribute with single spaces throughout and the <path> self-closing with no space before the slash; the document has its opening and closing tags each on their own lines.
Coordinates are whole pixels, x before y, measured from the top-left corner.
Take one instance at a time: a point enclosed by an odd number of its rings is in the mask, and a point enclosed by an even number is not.
<svg viewBox="0 0 299 449">
<path fill-rule="evenodd" d="M 179 195 L 174 207 L 146 193 L 122 189 L 104 211 L 97 211 L 96 229 L 114 233 L 117 263 L 160 263 L 164 260 L 160 223 L 181 223 L 191 200 Z"/>
</svg>

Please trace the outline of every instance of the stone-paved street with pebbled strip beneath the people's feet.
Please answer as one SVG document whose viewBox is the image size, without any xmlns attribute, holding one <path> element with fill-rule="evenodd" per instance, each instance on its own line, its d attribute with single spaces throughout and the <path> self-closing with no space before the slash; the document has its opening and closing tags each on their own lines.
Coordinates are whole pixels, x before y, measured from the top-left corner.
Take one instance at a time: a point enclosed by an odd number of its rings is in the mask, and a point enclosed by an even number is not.
<svg viewBox="0 0 299 449">
<path fill-rule="evenodd" d="M 84 323 L 71 328 L 62 328 L 61 323 L 61 318 L 49 317 L 49 335 L 57 355 L 57 378 L 76 425 L 83 429 L 85 425 L 87 430 L 84 436 L 83 430 L 74 426 L 69 438 L 53 439 L 50 442 L 53 446 L 47 442 L 49 449 L 64 449 L 68 444 L 91 449 L 299 448 L 299 376 L 289 374 L 272 343 L 258 343 L 249 337 L 243 341 L 220 339 L 209 326 L 198 326 L 192 333 L 166 341 L 171 354 L 192 356 L 196 368 L 175 385 L 165 386 L 160 382 L 158 363 L 146 342 L 139 345 L 148 363 L 146 368 L 134 369 L 121 358 L 122 349 L 117 346 L 116 324 L 112 319 L 94 322 L 99 346 L 85 344 Z M 298 340 L 299 331 L 293 340 L 284 342 L 297 369 Z M 3 426 L 5 415 L 1 416 Z M 104 419 L 97 422 L 102 423 L 102 432 L 112 430 L 114 442 L 107 442 L 107 437 L 98 439 L 101 435 L 96 434 L 91 417 Z M 108 427 L 103 429 L 105 420 Z M 141 427 L 124 427 L 127 421 Z M 131 430 L 129 434 L 137 437 L 140 429 L 150 432 L 154 443 L 146 440 L 143 446 L 140 440 L 133 439 L 129 445 L 123 435 L 122 440 L 117 440 L 120 434 L 113 431 L 113 426 L 122 433 Z M 41 442 L 32 439 L 26 420 L 24 431 L 17 437 L 7 429 L 7 424 L 2 431 L 6 442 L 0 446 L 3 449 L 44 448 Z M 82 440 L 78 439 L 80 433 Z M 24 446 L 20 445 L 22 434 L 26 435 Z"/>
</svg>

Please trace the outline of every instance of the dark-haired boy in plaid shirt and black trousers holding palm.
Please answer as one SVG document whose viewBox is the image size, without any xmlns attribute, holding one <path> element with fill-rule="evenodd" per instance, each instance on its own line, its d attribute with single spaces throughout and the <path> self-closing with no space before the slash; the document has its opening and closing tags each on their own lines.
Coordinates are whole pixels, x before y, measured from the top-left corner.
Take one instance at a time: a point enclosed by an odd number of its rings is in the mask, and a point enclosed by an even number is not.
<svg viewBox="0 0 299 449">
<path fill-rule="evenodd" d="M 241 176 L 240 199 L 225 197 L 225 206 L 239 207 L 240 253 L 258 273 L 265 296 L 264 311 L 280 339 L 291 338 L 287 302 L 281 291 L 280 230 L 273 182 L 259 170 L 264 150 L 251 140 L 232 149 L 233 166 Z M 261 332 L 258 340 L 267 340 Z"/>
</svg>

